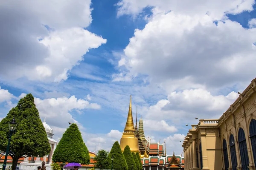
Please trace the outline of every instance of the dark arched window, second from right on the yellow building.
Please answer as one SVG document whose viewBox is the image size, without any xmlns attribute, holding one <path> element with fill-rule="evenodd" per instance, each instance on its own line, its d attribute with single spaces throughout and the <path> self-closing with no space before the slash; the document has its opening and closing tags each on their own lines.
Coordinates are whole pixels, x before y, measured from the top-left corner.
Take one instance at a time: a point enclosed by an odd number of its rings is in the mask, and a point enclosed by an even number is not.
<svg viewBox="0 0 256 170">
<path fill-rule="evenodd" d="M 240 127 L 238 130 L 238 143 L 241 156 L 242 170 L 249 170 L 249 157 L 247 151 L 247 144 L 245 140 L 244 130 Z"/>
</svg>

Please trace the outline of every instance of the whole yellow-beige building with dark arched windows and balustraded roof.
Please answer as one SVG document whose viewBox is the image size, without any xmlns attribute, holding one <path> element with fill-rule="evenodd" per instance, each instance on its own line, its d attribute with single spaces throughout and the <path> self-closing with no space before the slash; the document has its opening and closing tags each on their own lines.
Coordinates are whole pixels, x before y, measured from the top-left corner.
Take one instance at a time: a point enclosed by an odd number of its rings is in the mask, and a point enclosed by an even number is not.
<svg viewBox="0 0 256 170">
<path fill-rule="evenodd" d="M 219 119 L 200 119 L 183 142 L 185 170 L 255 170 L 256 79 Z"/>
</svg>

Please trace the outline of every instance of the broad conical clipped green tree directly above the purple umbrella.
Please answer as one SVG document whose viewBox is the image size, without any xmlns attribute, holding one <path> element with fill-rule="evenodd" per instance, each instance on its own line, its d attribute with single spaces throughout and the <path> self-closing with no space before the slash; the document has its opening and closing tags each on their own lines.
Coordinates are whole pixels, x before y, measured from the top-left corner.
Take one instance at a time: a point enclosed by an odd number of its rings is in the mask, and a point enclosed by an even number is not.
<svg viewBox="0 0 256 170">
<path fill-rule="evenodd" d="M 72 123 L 58 143 L 53 155 L 53 162 L 79 162 L 80 164 L 89 164 L 90 155 L 81 136 L 77 125 Z"/>
</svg>

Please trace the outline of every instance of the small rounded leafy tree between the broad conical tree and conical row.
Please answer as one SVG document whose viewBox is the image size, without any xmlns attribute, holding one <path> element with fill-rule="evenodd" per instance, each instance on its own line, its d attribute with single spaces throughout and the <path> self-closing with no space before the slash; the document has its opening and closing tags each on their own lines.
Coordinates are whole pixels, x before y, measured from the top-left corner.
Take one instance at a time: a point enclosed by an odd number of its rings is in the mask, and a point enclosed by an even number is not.
<svg viewBox="0 0 256 170">
<path fill-rule="evenodd" d="M 94 161 L 96 161 L 95 167 L 99 168 L 100 170 L 111 168 L 111 159 L 106 150 L 99 150 L 94 157 Z"/>
</svg>

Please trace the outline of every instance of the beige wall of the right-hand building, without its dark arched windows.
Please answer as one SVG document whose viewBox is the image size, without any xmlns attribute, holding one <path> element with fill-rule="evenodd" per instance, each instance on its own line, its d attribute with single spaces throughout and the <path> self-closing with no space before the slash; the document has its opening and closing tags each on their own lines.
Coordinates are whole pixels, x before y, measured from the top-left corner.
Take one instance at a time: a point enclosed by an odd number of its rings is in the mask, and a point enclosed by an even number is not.
<svg viewBox="0 0 256 170">
<path fill-rule="evenodd" d="M 237 170 L 241 168 L 241 156 L 238 143 L 238 131 L 242 128 L 245 133 L 249 170 L 255 170 L 253 151 L 250 141 L 249 126 L 252 119 L 256 119 L 256 79 L 244 90 L 239 98 L 220 119 L 200 119 L 198 125 L 192 125 L 184 142 L 185 170 L 225 170 L 223 139 L 227 142 L 229 170 L 232 170 L 229 137 L 233 134 L 236 147 Z M 199 144 L 202 147 L 202 162 L 200 166 Z M 193 147 L 194 144 L 194 147 Z M 198 147 L 198 152 L 196 150 Z M 197 154 L 198 153 L 198 154 Z M 196 156 L 198 155 L 198 159 Z M 197 166 L 197 164 L 199 166 Z"/>
</svg>

